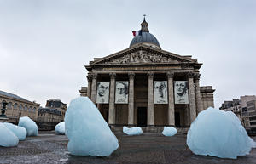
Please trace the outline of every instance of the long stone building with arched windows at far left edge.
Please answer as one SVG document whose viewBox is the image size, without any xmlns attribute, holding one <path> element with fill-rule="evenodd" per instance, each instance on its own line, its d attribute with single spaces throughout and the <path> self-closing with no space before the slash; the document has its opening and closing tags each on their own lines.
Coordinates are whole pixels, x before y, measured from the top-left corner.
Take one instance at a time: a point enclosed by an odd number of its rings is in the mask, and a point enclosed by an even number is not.
<svg viewBox="0 0 256 164">
<path fill-rule="evenodd" d="M 0 109 L 2 103 L 7 102 L 8 105 L 5 115 L 8 117 L 7 122 L 18 124 L 21 116 L 28 116 L 34 122 L 38 121 L 38 109 L 40 104 L 21 98 L 13 93 L 0 91 Z"/>
</svg>

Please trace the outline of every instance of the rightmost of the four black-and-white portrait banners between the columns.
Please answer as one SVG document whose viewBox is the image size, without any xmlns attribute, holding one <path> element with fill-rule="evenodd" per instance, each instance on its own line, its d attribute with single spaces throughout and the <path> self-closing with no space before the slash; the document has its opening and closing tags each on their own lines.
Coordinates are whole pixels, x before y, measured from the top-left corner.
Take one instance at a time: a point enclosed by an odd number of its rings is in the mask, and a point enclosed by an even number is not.
<svg viewBox="0 0 256 164">
<path fill-rule="evenodd" d="M 189 89 L 188 89 L 187 81 L 175 81 L 174 82 L 175 104 L 189 104 L 188 91 Z"/>
</svg>

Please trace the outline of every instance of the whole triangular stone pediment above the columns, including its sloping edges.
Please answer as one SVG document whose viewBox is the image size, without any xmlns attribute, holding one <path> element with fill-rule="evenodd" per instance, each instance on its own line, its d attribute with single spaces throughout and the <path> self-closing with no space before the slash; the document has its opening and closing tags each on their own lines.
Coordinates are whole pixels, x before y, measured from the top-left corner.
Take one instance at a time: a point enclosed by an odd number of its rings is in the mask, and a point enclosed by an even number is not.
<svg viewBox="0 0 256 164">
<path fill-rule="evenodd" d="M 133 65 L 133 64 L 158 64 L 158 63 L 195 63 L 195 59 L 187 58 L 178 54 L 172 54 L 160 49 L 137 46 L 127 48 L 116 54 L 111 54 L 102 59 L 97 59 L 91 65 Z"/>
</svg>

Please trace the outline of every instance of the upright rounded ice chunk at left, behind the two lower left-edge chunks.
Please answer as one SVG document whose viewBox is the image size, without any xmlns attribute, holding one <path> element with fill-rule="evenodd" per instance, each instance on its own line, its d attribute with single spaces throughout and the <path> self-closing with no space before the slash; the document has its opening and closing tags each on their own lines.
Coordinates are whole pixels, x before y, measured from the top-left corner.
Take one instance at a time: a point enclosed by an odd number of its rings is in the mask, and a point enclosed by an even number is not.
<svg viewBox="0 0 256 164">
<path fill-rule="evenodd" d="M 20 117 L 18 126 L 26 128 L 26 136 L 38 136 L 38 126 L 28 116 Z"/>
</svg>

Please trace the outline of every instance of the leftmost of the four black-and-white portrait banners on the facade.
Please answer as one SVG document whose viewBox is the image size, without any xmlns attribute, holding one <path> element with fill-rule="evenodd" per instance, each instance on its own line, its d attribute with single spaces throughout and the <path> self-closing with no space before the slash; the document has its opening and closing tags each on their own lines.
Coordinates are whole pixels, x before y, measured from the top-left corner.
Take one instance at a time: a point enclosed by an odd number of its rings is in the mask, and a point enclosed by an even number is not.
<svg viewBox="0 0 256 164">
<path fill-rule="evenodd" d="M 109 82 L 97 82 L 96 103 L 108 104 Z"/>
</svg>

